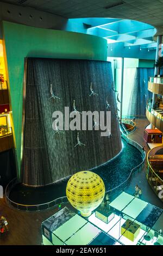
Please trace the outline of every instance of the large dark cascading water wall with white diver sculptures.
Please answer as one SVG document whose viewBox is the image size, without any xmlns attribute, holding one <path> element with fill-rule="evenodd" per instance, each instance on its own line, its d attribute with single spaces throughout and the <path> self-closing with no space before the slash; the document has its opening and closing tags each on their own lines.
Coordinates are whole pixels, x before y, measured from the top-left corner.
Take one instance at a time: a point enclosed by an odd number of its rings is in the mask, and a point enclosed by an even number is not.
<svg viewBox="0 0 163 256">
<path fill-rule="evenodd" d="M 93 92 L 91 95 L 90 85 Z M 51 84 L 55 96 L 51 98 Z M 21 181 L 47 185 L 99 166 L 122 148 L 112 88 L 111 63 L 96 60 L 28 58 Z M 110 105 L 106 109 L 106 99 Z M 101 130 L 52 129 L 54 111 L 111 111 L 111 136 Z M 71 118 L 70 118 L 71 120 Z M 82 124 L 82 120 L 81 120 Z M 93 122 L 95 124 L 95 120 Z M 77 145 L 79 141 L 85 145 Z M 76 147 L 75 147 L 76 146 Z"/>
</svg>

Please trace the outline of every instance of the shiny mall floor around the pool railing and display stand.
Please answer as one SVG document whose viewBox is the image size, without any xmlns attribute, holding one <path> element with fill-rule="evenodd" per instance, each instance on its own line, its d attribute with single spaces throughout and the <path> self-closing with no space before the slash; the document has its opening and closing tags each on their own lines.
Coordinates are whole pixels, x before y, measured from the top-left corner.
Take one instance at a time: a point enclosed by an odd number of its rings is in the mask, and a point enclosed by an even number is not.
<svg viewBox="0 0 163 256">
<path fill-rule="evenodd" d="M 129 137 L 139 144 L 145 145 L 143 142 L 143 130 L 148 124 L 148 121 L 147 119 L 137 119 L 135 121 L 136 130 L 131 133 Z M 148 151 L 147 145 L 146 151 Z M 141 173 L 133 176 L 126 191 L 132 195 L 135 192 L 136 184 L 142 189 L 143 200 L 163 208 L 162 202 L 155 196 L 151 187 L 148 185 L 145 169 Z M 0 199 L 0 215 L 7 217 L 9 223 L 9 232 L 4 234 L 3 237 L 0 237 L 0 245 L 41 245 L 41 222 L 46 220 L 47 217 L 52 216 L 56 210 L 57 209 L 43 212 L 21 212 L 15 209 L 10 209 L 9 206 L 6 205 L 5 200 Z M 116 221 L 116 218 L 114 218 L 114 221 Z M 158 218 L 154 225 L 156 230 L 159 230 L 160 223 L 163 223 L 163 214 Z M 110 228 L 105 225 L 105 231 L 108 232 L 109 229 Z"/>
</svg>

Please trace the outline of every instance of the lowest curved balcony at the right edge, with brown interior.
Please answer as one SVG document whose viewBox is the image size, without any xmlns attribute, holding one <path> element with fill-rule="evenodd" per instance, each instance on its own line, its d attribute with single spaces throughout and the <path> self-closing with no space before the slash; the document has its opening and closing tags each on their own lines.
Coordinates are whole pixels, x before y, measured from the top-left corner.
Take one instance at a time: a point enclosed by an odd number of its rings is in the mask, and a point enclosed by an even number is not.
<svg viewBox="0 0 163 256">
<path fill-rule="evenodd" d="M 148 152 L 146 177 L 155 194 L 163 202 L 163 147 Z M 159 155 L 160 154 L 160 155 Z"/>
</svg>

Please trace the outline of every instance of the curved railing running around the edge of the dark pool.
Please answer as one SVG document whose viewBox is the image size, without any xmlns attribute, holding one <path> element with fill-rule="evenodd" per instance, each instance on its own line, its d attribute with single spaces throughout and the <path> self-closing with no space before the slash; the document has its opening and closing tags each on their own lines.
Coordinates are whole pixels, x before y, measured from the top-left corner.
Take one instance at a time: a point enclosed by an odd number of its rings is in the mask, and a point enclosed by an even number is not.
<svg viewBox="0 0 163 256">
<path fill-rule="evenodd" d="M 127 178 L 125 181 L 123 181 L 122 184 L 120 184 L 120 185 L 118 185 L 117 187 L 112 188 L 111 190 L 108 190 L 108 191 L 105 192 L 105 194 L 109 193 L 109 195 L 111 194 L 111 192 L 114 192 L 115 190 L 117 190 L 117 188 L 120 188 L 120 187 L 122 187 L 121 191 L 123 191 L 124 188 L 127 187 L 127 185 L 129 184 L 131 175 L 132 175 L 133 173 L 135 173 L 134 170 L 137 168 L 137 172 L 139 172 L 139 171 L 142 169 L 142 164 L 145 163 L 145 159 L 146 159 L 146 152 L 143 151 L 143 149 L 142 149 L 142 147 L 139 145 L 139 143 L 134 142 L 133 140 L 129 139 L 129 138 L 128 138 L 126 135 L 124 135 L 124 134 L 122 134 L 121 136 L 122 136 L 122 138 L 124 138 L 124 139 L 127 141 L 127 143 L 129 143 L 129 144 L 131 144 L 131 145 L 134 145 L 134 147 L 137 148 L 137 149 L 141 152 L 141 154 L 142 154 L 142 156 L 143 156 L 143 161 L 142 161 L 138 166 L 136 166 L 136 167 L 134 167 L 133 169 L 131 169 L 131 172 L 130 172 L 128 178 Z M 10 193 L 12 187 L 14 187 L 14 186 L 15 186 L 16 184 L 18 184 L 18 183 L 19 183 L 19 182 L 18 182 L 17 178 L 15 178 L 15 179 L 13 179 L 13 180 L 11 180 L 11 181 L 9 182 L 9 184 L 7 185 L 7 187 L 6 187 L 6 189 L 5 189 L 5 196 L 6 196 L 7 203 L 8 203 L 9 205 L 11 205 L 11 206 L 12 206 L 12 205 L 15 205 L 18 210 L 24 210 L 24 209 L 25 209 L 26 211 L 30 211 L 29 208 L 35 208 L 35 209 L 36 209 L 35 211 L 40 211 L 40 210 L 50 209 L 50 208 L 52 208 L 52 207 L 54 207 L 54 206 L 56 206 L 56 205 L 58 205 L 58 204 L 60 204 L 60 203 L 62 204 L 62 203 L 67 203 L 67 202 L 68 202 L 68 199 L 67 199 L 67 197 L 65 196 L 65 197 L 56 198 L 56 199 L 52 200 L 51 202 L 47 202 L 47 203 L 43 203 L 43 204 L 37 204 L 37 205 L 25 205 L 25 204 L 15 203 L 15 202 L 13 202 L 13 201 L 9 198 L 9 193 Z M 123 185 L 124 185 L 125 183 L 126 183 L 126 186 L 124 187 Z M 11 186 L 10 186 L 10 185 L 11 185 Z M 116 191 L 115 193 L 120 193 L 121 191 Z M 60 199 L 61 199 L 61 202 L 60 202 Z M 64 200 L 64 199 L 65 199 L 65 200 Z M 57 204 L 54 204 L 55 202 L 58 202 L 58 203 L 57 203 Z M 53 205 L 52 205 L 51 207 L 49 207 L 49 205 L 51 205 L 51 204 L 53 204 Z M 43 209 L 40 209 L 41 206 L 48 206 L 48 207 L 45 207 L 45 208 L 43 207 Z M 23 209 L 21 209 L 21 208 L 23 208 Z"/>
</svg>

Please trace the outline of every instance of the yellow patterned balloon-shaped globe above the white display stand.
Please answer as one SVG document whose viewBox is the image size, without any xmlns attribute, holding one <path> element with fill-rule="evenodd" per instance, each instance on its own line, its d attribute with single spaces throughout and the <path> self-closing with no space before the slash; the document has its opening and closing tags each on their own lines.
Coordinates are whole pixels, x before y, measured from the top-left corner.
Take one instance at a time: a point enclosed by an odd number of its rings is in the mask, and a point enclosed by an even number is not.
<svg viewBox="0 0 163 256">
<path fill-rule="evenodd" d="M 105 185 L 96 173 L 88 170 L 78 172 L 68 180 L 66 196 L 82 216 L 88 217 L 102 203 Z"/>
</svg>

